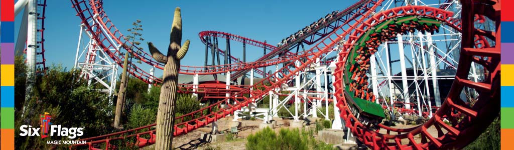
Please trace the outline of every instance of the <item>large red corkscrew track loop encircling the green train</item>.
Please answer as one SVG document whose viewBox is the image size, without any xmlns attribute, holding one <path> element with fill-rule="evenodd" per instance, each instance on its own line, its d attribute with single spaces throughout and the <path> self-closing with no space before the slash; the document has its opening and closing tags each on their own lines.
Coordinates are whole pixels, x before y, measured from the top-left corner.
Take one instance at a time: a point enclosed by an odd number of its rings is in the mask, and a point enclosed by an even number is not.
<svg viewBox="0 0 514 150">
<path fill-rule="evenodd" d="M 482 30 L 475 29 L 473 26 L 474 15 L 462 16 L 463 44 L 457 74 L 450 89 L 450 94 L 435 115 L 426 123 L 417 127 L 398 129 L 379 124 L 379 128 L 372 130 L 361 122 L 354 121 L 357 118 L 351 113 L 343 96 L 344 85 L 342 77 L 344 74 L 342 70 L 346 63 L 344 59 L 347 56 L 347 52 L 339 54 L 338 68 L 335 71 L 335 96 L 339 100 L 337 106 L 342 110 L 340 116 L 344 119 L 345 126 L 350 128 L 352 133 L 364 144 L 373 149 L 461 149 L 478 137 L 495 116 L 498 115 L 500 108 L 500 47 L 484 44 L 487 43 L 487 40 L 483 39 L 485 39 L 485 36 L 497 43 L 500 42 L 500 4 L 493 1 L 487 1 L 486 3 L 463 1 L 462 7 L 463 12 L 485 15 L 496 21 L 497 26 L 495 29 L 497 31 L 483 32 Z M 420 14 L 420 12 L 423 14 Z M 456 24 L 458 20 L 452 19 L 451 14 L 450 12 L 427 7 L 406 6 L 393 8 L 378 13 L 364 22 L 359 27 L 360 30 L 356 30 L 352 34 L 349 41 L 359 39 L 363 33 L 373 27 L 372 22 L 381 23 L 392 17 L 403 15 L 423 15 L 436 18 L 458 29 Z M 475 36 L 481 37 L 478 38 L 480 47 L 475 46 Z M 351 50 L 353 45 L 347 44 L 344 47 L 345 50 Z M 485 81 L 473 82 L 468 80 L 471 62 L 479 63 L 487 69 L 489 75 Z M 459 98 L 464 88 L 479 91 L 480 96 L 473 106 L 467 105 Z M 449 117 L 455 114 L 455 112 L 460 113 L 461 116 Z M 448 116 L 447 119 L 450 121 L 450 125 L 444 123 L 443 116 L 445 115 Z M 437 135 L 432 135 L 428 132 L 427 129 L 431 127 L 437 130 Z M 385 130 L 385 132 L 381 130 Z M 420 136 L 421 142 L 417 143 L 413 138 L 414 136 Z M 406 139 L 408 142 L 405 142 L 405 140 L 402 142 L 402 139 Z"/>
</svg>

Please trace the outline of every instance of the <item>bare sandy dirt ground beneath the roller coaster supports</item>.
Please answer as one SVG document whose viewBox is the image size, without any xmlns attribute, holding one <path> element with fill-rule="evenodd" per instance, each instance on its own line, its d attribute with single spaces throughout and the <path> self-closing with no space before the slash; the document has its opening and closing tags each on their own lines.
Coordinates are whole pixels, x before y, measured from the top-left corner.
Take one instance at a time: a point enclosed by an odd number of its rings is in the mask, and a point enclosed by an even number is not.
<svg viewBox="0 0 514 150">
<path fill-rule="evenodd" d="M 277 125 L 274 126 L 275 131 L 279 131 L 281 128 L 290 128 L 289 122 L 292 120 L 277 120 Z M 211 124 L 198 128 L 197 130 L 194 130 L 186 135 L 181 135 L 178 137 L 175 137 L 173 139 L 173 145 L 176 149 L 209 149 L 209 148 L 217 148 L 217 149 L 231 149 L 231 150 L 243 150 L 246 149 L 246 137 L 248 137 L 250 134 L 254 134 L 255 132 L 259 131 L 259 124 L 261 124 L 262 120 L 241 120 L 241 127 L 238 127 L 238 135 L 236 136 L 235 140 L 232 141 L 223 141 L 223 142 L 206 142 L 200 139 L 201 134 L 210 133 L 212 130 Z M 314 123 L 315 120 L 313 120 Z M 218 120 L 218 131 L 219 132 L 229 132 L 230 126 L 233 124 L 232 117 L 222 118 L 221 120 Z M 416 125 L 402 125 L 402 124 L 396 124 L 394 128 L 411 128 L 415 127 Z M 306 126 L 305 128 L 314 127 L 314 125 Z M 435 128 L 428 128 L 428 132 L 436 136 L 437 130 Z M 385 130 L 381 130 L 380 133 L 386 133 Z M 391 133 L 394 134 L 394 133 Z M 316 137 L 317 135 L 315 135 Z M 414 140 L 416 142 L 420 142 L 421 138 L 419 135 L 414 136 Z M 409 140 L 403 139 L 401 141 L 403 144 L 408 143 Z M 141 149 L 154 149 L 154 146 L 146 146 Z"/>
</svg>

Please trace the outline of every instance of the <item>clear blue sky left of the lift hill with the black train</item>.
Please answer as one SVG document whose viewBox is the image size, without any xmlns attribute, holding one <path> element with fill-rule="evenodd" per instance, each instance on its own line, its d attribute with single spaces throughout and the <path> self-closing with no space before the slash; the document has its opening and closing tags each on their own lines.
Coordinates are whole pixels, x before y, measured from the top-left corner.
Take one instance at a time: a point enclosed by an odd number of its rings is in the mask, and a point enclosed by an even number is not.
<svg viewBox="0 0 514 150">
<path fill-rule="evenodd" d="M 122 3 L 120 3 L 122 2 Z M 198 38 L 200 31 L 214 30 L 237 34 L 276 45 L 281 39 L 324 17 L 327 13 L 343 10 L 353 1 L 104 1 L 108 17 L 123 34 L 132 28 L 136 19 L 142 21 L 145 41 L 154 42 L 166 53 L 175 7 L 182 11 L 182 42 L 191 40 L 189 52 L 182 65 L 203 66 L 205 45 Z M 21 14 L 16 20 L 21 19 Z M 62 64 L 68 69 L 75 61 L 80 18 L 69 1 L 47 1 L 45 19 L 45 49 L 47 65 Z M 20 22 L 16 22 L 17 31 Z M 16 38 L 15 38 L 16 39 Z M 218 39 L 224 42 L 224 39 Z M 232 55 L 242 57 L 240 43 L 231 42 Z M 225 49 L 224 45 L 221 45 Z M 263 55 L 261 48 L 247 46 L 247 61 Z M 209 60 L 210 62 L 210 60 Z M 222 60 L 223 63 L 223 60 Z M 149 65 L 138 65 L 148 71 Z M 159 73 L 156 72 L 156 75 Z"/>
</svg>

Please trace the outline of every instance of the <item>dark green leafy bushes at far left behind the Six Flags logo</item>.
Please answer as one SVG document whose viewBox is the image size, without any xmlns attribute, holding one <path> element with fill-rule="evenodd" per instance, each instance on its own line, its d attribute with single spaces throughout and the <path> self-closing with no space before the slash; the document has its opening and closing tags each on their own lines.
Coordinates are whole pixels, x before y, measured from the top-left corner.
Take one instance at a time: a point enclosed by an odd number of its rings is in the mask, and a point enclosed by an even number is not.
<svg viewBox="0 0 514 150">
<path fill-rule="evenodd" d="M 26 73 L 24 58 L 17 55 L 15 60 L 15 81 L 24 80 Z M 40 125 L 40 115 L 48 112 L 52 116 L 53 124 L 63 127 L 83 127 L 84 135 L 78 138 L 93 137 L 113 131 L 110 125 L 113 107 L 109 105 L 107 95 L 88 87 L 87 81 L 80 77 L 80 71 L 65 71 L 63 67 L 52 66 L 46 74 L 38 74 L 36 79 L 32 98 L 28 101 L 16 102 L 15 128 L 24 124 Z M 15 97 L 22 99 L 25 97 L 23 85 L 15 87 L 15 91 Z M 49 146 L 53 145 L 47 145 L 48 140 L 70 139 L 58 136 L 44 139 L 20 136 L 20 130 L 15 130 L 16 149 L 49 149 Z M 66 145 L 59 146 L 58 148 L 65 148 Z"/>
</svg>

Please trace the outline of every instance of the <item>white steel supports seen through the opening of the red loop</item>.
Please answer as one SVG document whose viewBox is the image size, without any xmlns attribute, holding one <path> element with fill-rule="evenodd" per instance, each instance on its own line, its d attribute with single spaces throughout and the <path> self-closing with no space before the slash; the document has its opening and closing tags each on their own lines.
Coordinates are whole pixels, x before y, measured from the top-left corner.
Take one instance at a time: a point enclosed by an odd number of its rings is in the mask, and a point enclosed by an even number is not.
<svg viewBox="0 0 514 150">
<path fill-rule="evenodd" d="M 452 53 L 458 49 L 455 44 L 458 45 L 461 42 L 460 38 L 448 38 L 458 37 L 460 33 L 451 32 L 445 25 L 440 29 L 447 33 L 439 31 L 432 35 L 429 32 L 415 31 L 406 35 L 397 35 L 397 41 L 382 44 L 379 51 L 371 57 L 369 77 L 373 91 L 377 94 L 377 99 L 382 97 L 391 99 L 387 104 L 389 109 L 402 106 L 395 104 L 400 102 L 406 103 L 403 106 L 411 111 L 410 115 L 432 116 L 432 104 L 434 101 L 440 102 L 440 91 L 438 85 L 429 84 L 433 82 L 437 84 L 438 80 L 454 79 L 454 75 L 448 73 L 456 70 L 458 64 Z M 376 62 L 373 57 L 376 58 Z M 442 66 L 445 67 L 441 68 Z M 445 73 L 438 73 L 440 71 Z M 470 74 L 470 78 L 474 77 L 472 70 Z M 374 80 L 379 83 L 377 87 L 374 85 Z M 408 103 L 411 103 L 410 108 Z"/>
</svg>

